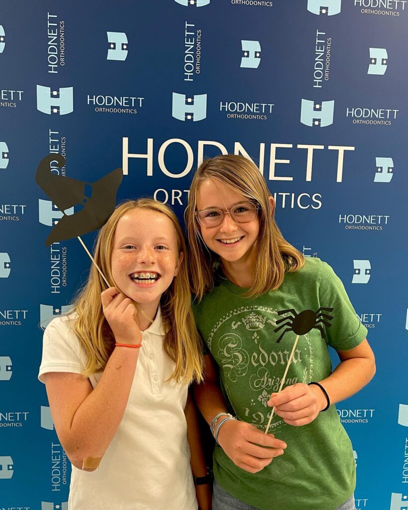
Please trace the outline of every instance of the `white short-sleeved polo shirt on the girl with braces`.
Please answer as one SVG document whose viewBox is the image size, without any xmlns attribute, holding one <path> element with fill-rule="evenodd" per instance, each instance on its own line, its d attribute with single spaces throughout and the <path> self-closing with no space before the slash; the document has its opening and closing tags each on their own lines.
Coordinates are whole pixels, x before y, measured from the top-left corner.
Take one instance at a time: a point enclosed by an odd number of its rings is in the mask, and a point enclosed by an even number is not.
<svg viewBox="0 0 408 510">
<path fill-rule="evenodd" d="M 38 378 L 84 371 L 86 354 L 73 331 L 75 314 L 44 331 Z M 184 407 L 187 385 L 170 377 L 174 362 L 163 348 L 160 308 L 142 332 L 142 347 L 120 425 L 96 471 L 72 466 L 69 510 L 196 510 Z M 96 387 L 102 372 L 89 377 Z M 109 410 L 107 410 L 109 413 Z"/>
</svg>

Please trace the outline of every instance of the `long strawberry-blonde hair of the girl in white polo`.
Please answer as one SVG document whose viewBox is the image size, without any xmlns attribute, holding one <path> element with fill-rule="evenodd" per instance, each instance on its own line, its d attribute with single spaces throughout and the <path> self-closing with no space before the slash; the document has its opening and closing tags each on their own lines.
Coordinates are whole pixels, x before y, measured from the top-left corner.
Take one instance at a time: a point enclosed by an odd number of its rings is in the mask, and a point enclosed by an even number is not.
<svg viewBox="0 0 408 510">
<path fill-rule="evenodd" d="M 161 202 L 151 198 L 129 200 L 118 206 L 107 223 L 100 229 L 94 248 L 94 260 L 100 270 L 113 284 L 111 257 L 116 225 L 126 213 L 135 210 L 149 210 L 164 214 L 173 223 L 177 237 L 179 255 L 187 253 L 183 231 L 173 211 Z M 115 339 L 102 310 L 100 294 L 106 284 L 92 264 L 88 282 L 73 303 L 75 333 L 78 335 L 87 355 L 83 375 L 104 370 L 115 347 Z M 202 349 L 191 310 L 191 293 L 188 279 L 187 257 L 170 287 L 162 294 L 161 313 L 165 329 L 164 350 L 175 363 L 171 378 L 177 381 L 200 382 L 202 380 Z"/>
</svg>

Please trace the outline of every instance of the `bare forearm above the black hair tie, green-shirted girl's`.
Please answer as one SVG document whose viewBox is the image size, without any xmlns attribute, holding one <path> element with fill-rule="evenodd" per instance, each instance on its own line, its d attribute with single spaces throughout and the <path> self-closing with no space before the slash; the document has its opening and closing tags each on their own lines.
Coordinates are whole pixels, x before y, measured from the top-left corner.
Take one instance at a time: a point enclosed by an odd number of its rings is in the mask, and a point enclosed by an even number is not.
<svg viewBox="0 0 408 510">
<path fill-rule="evenodd" d="M 326 390 L 330 403 L 335 404 L 364 388 L 374 374 L 374 358 L 351 358 L 343 360 L 333 373 L 319 382 Z"/>
</svg>

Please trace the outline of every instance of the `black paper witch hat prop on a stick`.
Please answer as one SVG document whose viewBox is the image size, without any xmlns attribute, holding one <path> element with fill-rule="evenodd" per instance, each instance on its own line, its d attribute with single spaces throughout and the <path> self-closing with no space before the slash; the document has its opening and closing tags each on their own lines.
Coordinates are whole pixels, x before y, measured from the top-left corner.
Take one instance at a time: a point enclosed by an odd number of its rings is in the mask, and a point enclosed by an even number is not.
<svg viewBox="0 0 408 510">
<path fill-rule="evenodd" d="M 115 209 L 116 193 L 123 177 L 123 170 L 116 168 L 98 181 L 87 183 L 51 173 L 52 162 L 63 167 L 65 158 L 50 154 L 42 159 L 36 182 L 64 215 L 47 237 L 45 246 L 88 234 L 103 226 Z M 72 207 L 77 211 L 66 214 L 65 211 Z"/>
</svg>

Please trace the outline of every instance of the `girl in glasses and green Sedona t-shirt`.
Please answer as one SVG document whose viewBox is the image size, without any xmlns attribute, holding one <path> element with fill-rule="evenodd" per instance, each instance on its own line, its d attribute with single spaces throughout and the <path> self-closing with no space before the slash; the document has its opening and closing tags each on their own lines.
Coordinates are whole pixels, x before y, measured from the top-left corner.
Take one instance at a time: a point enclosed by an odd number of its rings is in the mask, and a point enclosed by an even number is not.
<svg viewBox="0 0 408 510">
<path fill-rule="evenodd" d="M 200 165 L 186 223 L 208 348 L 195 397 L 217 442 L 213 510 L 354 509 L 352 447 L 333 404 L 363 388 L 375 363 L 342 283 L 283 238 L 266 183 L 244 157 Z M 316 317 L 278 394 L 306 310 Z M 333 373 L 328 345 L 340 357 Z"/>
</svg>

